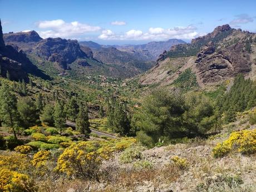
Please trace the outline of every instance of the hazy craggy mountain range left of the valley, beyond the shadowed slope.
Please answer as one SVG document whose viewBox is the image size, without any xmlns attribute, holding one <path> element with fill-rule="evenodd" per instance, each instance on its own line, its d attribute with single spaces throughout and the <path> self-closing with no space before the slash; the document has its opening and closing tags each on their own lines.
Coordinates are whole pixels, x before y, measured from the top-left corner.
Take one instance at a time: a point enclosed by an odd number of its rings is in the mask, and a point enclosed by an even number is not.
<svg viewBox="0 0 256 192">
<path fill-rule="evenodd" d="M 84 75 L 104 75 L 127 78 L 151 68 L 154 62 L 128 52 L 105 48 L 94 53 L 89 47 L 80 46 L 76 40 L 62 38 L 42 39 L 35 31 L 6 33 L 4 41 L 17 47 L 50 75 L 68 75 L 85 78 Z M 112 50 L 112 51 L 111 51 Z"/>
</svg>

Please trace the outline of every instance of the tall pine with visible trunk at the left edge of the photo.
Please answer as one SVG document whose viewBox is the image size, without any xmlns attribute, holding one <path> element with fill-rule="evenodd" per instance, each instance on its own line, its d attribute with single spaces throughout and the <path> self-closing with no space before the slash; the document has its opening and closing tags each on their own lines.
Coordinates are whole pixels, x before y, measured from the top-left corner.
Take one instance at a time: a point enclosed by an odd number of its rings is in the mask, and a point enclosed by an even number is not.
<svg viewBox="0 0 256 192">
<path fill-rule="evenodd" d="M 17 139 L 16 127 L 19 125 L 17 99 L 5 84 L 0 89 L 0 119 L 3 124 L 12 128 L 13 135 Z"/>
</svg>

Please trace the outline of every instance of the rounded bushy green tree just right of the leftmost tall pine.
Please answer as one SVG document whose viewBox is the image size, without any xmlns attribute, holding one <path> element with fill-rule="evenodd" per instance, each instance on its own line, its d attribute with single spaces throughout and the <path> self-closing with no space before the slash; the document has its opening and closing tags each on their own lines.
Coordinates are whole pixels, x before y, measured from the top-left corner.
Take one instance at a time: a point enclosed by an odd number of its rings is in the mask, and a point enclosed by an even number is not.
<svg viewBox="0 0 256 192">
<path fill-rule="evenodd" d="M 39 119 L 35 102 L 31 97 L 22 97 L 18 100 L 17 109 L 24 127 L 33 126 Z"/>
</svg>

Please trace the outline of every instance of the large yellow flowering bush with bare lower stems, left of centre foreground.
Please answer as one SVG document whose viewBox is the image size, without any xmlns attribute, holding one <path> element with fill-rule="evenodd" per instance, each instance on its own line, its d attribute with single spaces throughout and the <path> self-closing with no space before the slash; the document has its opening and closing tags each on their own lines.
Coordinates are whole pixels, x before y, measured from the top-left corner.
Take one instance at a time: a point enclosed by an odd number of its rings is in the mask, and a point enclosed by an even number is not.
<svg viewBox="0 0 256 192">
<path fill-rule="evenodd" d="M 111 147 L 104 142 L 82 141 L 63 151 L 56 170 L 68 176 L 99 180 L 99 166 L 111 152 Z"/>
</svg>

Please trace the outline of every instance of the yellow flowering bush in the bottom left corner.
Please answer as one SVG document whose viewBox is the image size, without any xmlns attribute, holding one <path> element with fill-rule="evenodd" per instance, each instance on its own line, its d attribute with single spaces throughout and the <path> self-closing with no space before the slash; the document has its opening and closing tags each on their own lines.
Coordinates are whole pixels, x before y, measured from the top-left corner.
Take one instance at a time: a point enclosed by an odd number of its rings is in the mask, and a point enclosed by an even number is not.
<svg viewBox="0 0 256 192">
<path fill-rule="evenodd" d="M 35 191 L 33 181 L 26 174 L 18 173 L 8 169 L 0 169 L 0 191 L 1 192 L 24 192 Z"/>
</svg>

